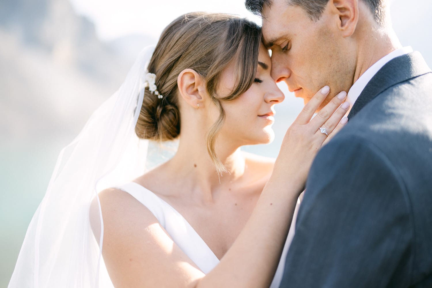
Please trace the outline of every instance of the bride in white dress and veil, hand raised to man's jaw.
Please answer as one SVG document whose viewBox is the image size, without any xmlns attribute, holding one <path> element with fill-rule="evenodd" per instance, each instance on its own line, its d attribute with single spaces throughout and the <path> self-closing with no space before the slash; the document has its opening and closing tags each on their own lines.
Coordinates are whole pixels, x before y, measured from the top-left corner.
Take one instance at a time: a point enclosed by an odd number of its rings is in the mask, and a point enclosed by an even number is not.
<svg viewBox="0 0 432 288">
<path fill-rule="evenodd" d="M 242 152 L 273 140 L 284 95 L 270 71 L 256 24 L 175 19 L 62 150 L 9 287 L 278 287 L 311 161 L 347 109 L 341 92 L 311 120 L 326 86 L 276 163 Z M 172 139 L 175 155 L 143 174 L 148 141 Z"/>
</svg>

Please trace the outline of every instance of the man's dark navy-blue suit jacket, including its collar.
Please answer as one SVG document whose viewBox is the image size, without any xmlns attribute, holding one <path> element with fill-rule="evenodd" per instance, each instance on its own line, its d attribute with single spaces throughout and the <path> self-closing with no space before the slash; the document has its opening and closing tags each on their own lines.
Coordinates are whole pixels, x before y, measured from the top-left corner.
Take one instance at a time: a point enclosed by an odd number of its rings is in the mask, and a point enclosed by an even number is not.
<svg viewBox="0 0 432 288">
<path fill-rule="evenodd" d="M 283 288 L 432 287 L 432 73 L 384 65 L 314 159 Z"/>
</svg>

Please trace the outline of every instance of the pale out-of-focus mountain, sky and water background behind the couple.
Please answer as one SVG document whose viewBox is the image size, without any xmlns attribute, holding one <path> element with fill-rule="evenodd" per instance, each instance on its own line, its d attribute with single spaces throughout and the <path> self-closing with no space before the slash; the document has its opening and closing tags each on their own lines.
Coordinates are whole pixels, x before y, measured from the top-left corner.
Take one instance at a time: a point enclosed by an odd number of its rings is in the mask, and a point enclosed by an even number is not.
<svg viewBox="0 0 432 288">
<path fill-rule="evenodd" d="M 243 0 L 0 0 L 0 288 L 12 275 L 25 231 L 60 150 L 118 89 L 142 47 L 191 11 L 237 14 Z M 432 67 L 430 0 L 391 1 L 402 44 Z M 276 139 L 244 150 L 276 157 L 302 108 L 284 84 Z"/>
</svg>

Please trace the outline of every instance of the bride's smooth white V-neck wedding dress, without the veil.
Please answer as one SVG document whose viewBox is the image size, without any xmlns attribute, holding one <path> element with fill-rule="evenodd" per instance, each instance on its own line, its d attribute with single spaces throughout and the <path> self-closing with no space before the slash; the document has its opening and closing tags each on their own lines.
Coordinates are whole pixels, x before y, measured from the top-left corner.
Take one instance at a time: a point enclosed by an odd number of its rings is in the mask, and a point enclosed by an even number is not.
<svg viewBox="0 0 432 288">
<path fill-rule="evenodd" d="M 201 271 L 208 273 L 219 263 L 219 259 L 186 219 L 172 206 L 156 196 L 156 194 L 136 182 L 127 182 L 115 188 L 129 193 L 146 206 L 158 219 L 160 225 L 165 228 L 175 244 L 194 261 Z M 289 229 L 285 247 L 283 248 L 283 253 L 270 288 L 278 288 L 282 280 L 286 253 L 288 252 L 292 237 L 294 237 L 295 218 L 297 216 L 299 204 L 300 201 L 297 201 L 291 228 Z"/>
</svg>

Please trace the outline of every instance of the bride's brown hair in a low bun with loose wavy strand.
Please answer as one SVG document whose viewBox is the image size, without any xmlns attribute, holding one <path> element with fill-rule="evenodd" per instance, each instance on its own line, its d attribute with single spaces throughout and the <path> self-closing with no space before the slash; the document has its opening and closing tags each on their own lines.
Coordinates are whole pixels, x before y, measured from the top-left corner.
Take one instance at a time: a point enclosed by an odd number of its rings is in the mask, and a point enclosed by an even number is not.
<svg viewBox="0 0 432 288">
<path fill-rule="evenodd" d="M 207 150 L 218 173 L 226 171 L 215 152 L 217 134 L 225 120 L 220 101 L 238 98 L 254 82 L 261 43 L 261 29 L 254 22 L 228 14 L 188 13 L 162 32 L 148 70 L 156 74 L 157 95 L 145 90 L 135 127 L 137 136 L 166 141 L 180 134 L 178 75 L 195 70 L 206 82 L 207 94 L 219 108 L 219 119 L 207 133 Z M 236 85 L 229 95 L 217 95 L 222 71 L 235 60 Z"/>
</svg>

